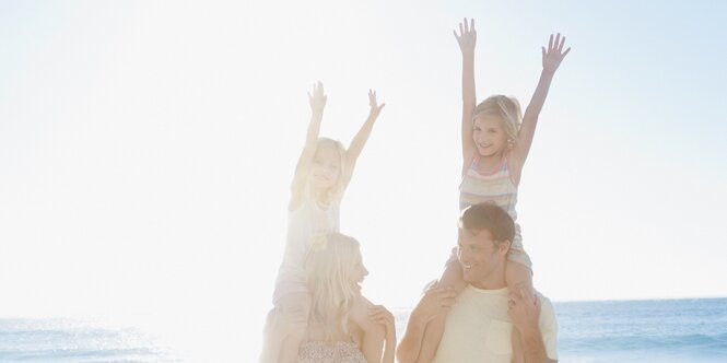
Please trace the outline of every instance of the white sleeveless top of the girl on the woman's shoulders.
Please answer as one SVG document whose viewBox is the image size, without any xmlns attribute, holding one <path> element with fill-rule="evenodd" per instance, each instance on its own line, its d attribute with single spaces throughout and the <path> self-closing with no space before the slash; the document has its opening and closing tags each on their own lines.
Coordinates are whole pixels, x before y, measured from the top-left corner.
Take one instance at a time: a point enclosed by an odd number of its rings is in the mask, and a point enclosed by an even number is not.
<svg viewBox="0 0 727 363">
<path fill-rule="evenodd" d="M 285 251 L 278 270 L 273 304 L 286 294 L 308 291 L 304 269 L 308 239 L 317 233 L 339 231 L 339 206 L 338 200 L 328 208 L 321 208 L 313 200 L 304 200 L 296 210 L 289 212 Z"/>
</svg>

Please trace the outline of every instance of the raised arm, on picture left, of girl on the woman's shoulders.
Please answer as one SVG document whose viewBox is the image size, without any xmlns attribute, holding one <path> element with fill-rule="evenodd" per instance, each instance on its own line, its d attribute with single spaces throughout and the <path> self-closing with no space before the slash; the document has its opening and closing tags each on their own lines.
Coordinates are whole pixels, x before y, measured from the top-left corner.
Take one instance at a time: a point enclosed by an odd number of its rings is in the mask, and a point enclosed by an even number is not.
<svg viewBox="0 0 727 363">
<path fill-rule="evenodd" d="M 308 102 L 310 103 L 310 124 L 308 124 L 308 131 L 305 136 L 303 152 L 301 152 L 301 157 L 298 157 L 297 165 L 295 166 L 295 176 L 293 176 L 293 185 L 291 186 L 291 201 L 288 204 L 290 210 L 296 209 L 303 200 L 303 189 L 305 188 L 306 178 L 308 177 L 308 172 L 313 164 L 313 157 L 316 154 L 316 143 L 318 142 L 320 121 L 324 118 L 326 99 L 323 83 L 315 83 L 313 85 L 313 94 L 308 93 Z"/>
</svg>

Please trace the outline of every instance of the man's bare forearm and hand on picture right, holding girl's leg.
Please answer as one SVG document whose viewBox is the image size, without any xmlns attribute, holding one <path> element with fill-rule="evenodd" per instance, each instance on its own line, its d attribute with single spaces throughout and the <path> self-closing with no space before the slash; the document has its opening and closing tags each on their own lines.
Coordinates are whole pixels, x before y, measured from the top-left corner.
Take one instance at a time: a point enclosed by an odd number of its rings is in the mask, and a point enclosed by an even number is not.
<svg viewBox="0 0 727 363">
<path fill-rule="evenodd" d="M 508 295 L 507 314 L 513 319 L 513 325 L 520 333 L 526 363 L 553 363 L 558 362 L 548 356 L 546 343 L 540 331 L 540 300 L 533 298 L 531 294 L 525 293 L 523 288 L 513 291 Z"/>
</svg>

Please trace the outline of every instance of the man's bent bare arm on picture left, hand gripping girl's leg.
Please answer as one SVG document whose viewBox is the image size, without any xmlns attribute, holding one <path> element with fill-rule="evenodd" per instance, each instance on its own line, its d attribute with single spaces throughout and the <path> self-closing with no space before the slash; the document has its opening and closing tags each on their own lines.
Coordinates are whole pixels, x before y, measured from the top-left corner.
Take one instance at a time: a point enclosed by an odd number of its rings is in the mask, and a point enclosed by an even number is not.
<svg viewBox="0 0 727 363">
<path fill-rule="evenodd" d="M 397 359 L 400 363 L 414 363 L 421 361 L 424 346 L 424 331 L 426 325 L 444 314 L 455 303 L 457 292 L 453 288 L 431 288 L 422 296 L 417 307 L 411 312 L 407 330 L 397 348 Z M 436 342 L 438 344 L 438 342 Z M 436 353 L 436 352 L 434 352 Z M 433 358 L 433 356 L 432 356 Z"/>
</svg>

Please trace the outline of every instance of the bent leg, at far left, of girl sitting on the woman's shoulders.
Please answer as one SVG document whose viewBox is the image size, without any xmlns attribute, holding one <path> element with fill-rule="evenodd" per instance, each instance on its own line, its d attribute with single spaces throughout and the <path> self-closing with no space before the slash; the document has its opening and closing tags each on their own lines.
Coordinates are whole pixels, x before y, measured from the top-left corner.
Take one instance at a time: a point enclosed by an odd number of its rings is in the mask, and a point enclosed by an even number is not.
<svg viewBox="0 0 727 363">
<path fill-rule="evenodd" d="M 295 293 L 281 298 L 268 314 L 260 362 L 296 362 L 298 347 L 308 327 L 309 313 L 308 293 Z"/>
</svg>

